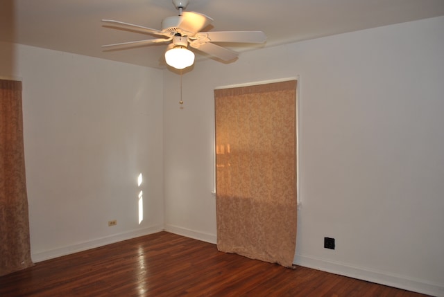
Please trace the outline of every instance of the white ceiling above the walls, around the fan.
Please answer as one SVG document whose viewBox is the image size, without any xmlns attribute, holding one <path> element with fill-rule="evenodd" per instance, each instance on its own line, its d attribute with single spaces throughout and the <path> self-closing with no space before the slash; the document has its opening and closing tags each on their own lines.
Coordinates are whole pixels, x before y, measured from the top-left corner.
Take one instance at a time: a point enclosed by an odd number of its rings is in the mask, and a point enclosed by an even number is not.
<svg viewBox="0 0 444 297">
<path fill-rule="evenodd" d="M 207 30 L 262 30 L 262 46 L 275 46 L 441 16 L 444 0 L 190 0 L 187 11 L 212 17 Z M 166 44 L 103 51 L 103 44 L 154 37 L 105 28 L 101 19 L 160 29 L 173 15 L 171 0 L 1 0 L 0 41 L 162 69 Z"/>
</svg>

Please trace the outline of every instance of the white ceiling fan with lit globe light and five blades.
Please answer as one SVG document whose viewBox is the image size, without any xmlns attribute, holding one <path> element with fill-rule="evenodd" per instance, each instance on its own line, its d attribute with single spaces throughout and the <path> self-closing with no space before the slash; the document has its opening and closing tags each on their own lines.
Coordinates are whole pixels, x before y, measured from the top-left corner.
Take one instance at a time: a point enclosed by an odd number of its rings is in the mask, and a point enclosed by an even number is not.
<svg viewBox="0 0 444 297">
<path fill-rule="evenodd" d="M 112 28 L 131 30 L 160 37 L 157 39 L 146 39 L 135 42 L 122 42 L 119 44 L 107 44 L 104 48 L 123 49 L 138 46 L 149 46 L 153 44 L 171 42 L 165 52 L 165 61 L 176 69 L 184 69 L 194 63 L 194 53 L 188 46 L 198 51 L 207 53 L 224 62 L 230 62 L 237 58 L 238 53 L 216 43 L 263 43 L 266 36 L 262 31 L 207 31 L 201 32 L 213 21 L 199 12 L 183 12 L 188 6 L 189 0 L 173 0 L 174 6 L 179 10 L 179 15 L 167 17 L 162 21 L 162 29 L 156 30 L 144 26 L 102 19 Z"/>
</svg>

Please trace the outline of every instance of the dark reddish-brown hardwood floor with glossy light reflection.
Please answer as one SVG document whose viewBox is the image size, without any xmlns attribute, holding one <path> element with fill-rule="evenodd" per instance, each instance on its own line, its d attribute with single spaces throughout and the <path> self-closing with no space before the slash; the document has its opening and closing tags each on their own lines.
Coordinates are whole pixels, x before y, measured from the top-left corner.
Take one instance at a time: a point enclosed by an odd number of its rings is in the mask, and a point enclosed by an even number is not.
<svg viewBox="0 0 444 297">
<path fill-rule="evenodd" d="M 425 296 L 305 267 L 221 253 L 160 232 L 0 277 L 0 296 Z"/>
</svg>

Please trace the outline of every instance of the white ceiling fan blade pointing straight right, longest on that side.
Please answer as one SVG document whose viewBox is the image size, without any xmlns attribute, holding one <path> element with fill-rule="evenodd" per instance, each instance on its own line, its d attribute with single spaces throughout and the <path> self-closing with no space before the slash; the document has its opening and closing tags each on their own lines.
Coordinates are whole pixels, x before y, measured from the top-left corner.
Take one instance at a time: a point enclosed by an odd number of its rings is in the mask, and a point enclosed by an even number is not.
<svg viewBox="0 0 444 297">
<path fill-rule="evenodd" d="M 263 43 L 266 41 L 262 31 L 209 31 L 197 33 L 195 37 L 203 42 Z"/>
</svg>

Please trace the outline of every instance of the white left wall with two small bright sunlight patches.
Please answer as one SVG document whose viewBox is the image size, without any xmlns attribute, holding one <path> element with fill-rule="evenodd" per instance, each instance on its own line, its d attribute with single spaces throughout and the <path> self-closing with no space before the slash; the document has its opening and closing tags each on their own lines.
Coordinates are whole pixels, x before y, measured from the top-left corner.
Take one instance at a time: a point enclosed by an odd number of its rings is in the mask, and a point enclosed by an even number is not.
<svg viewBox="0 0 444 297">
<path fill-rule="evenodd" d="M 0 75 L 23 80 L 33 260 L 162 230 L 162 71 L 30 46 L 0 48 L 13 53 L 1 56 L 7 67 Z M 108 227 L 112 219 L 117 226 Z"/>
</svg>

